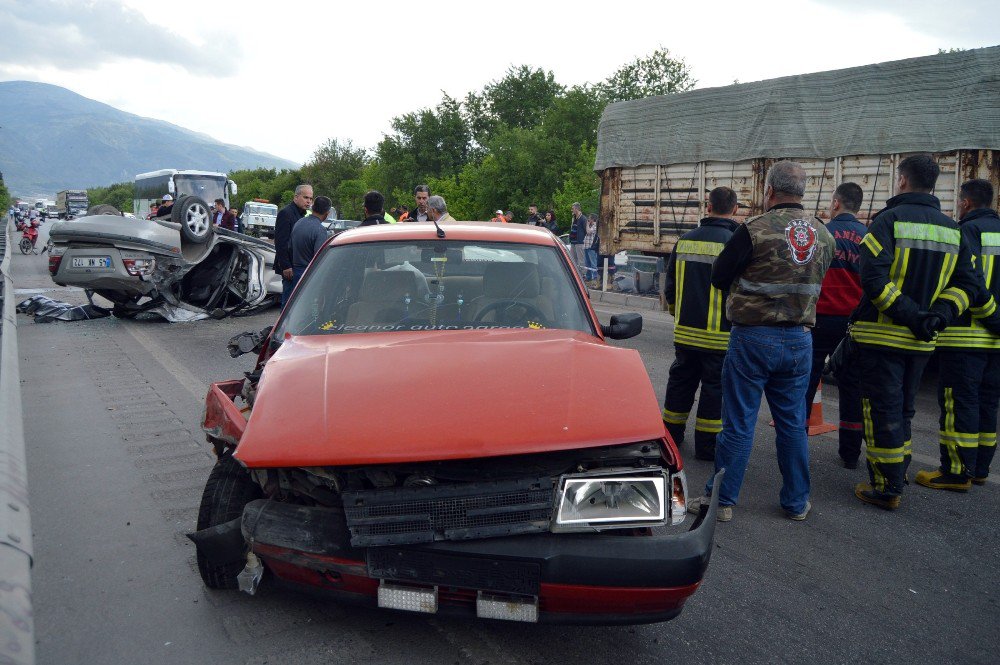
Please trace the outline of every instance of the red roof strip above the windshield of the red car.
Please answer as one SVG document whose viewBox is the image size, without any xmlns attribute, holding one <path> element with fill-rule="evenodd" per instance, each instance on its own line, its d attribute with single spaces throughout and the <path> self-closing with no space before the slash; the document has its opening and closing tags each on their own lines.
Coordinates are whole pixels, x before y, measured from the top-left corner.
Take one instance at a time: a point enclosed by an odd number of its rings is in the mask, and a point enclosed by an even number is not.
<svg viewBox="0 0 1000 665">
<path fill-rule="evenodd" d="M 499 222 L 445 222 L 441 224 L 445 240 L 480 242 L 511 242 L 528 245 L 556 246 L 558 238 L 545 229 L 523 224 Z M 331 244 L 346 245 L 359 242 L 391 242 L 399 240 L 436 240 L 437 230 L 431 222 L 399 222 L 377 224 L 345 231 L 333 238 Z"/>
</svg>

